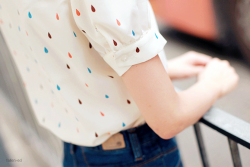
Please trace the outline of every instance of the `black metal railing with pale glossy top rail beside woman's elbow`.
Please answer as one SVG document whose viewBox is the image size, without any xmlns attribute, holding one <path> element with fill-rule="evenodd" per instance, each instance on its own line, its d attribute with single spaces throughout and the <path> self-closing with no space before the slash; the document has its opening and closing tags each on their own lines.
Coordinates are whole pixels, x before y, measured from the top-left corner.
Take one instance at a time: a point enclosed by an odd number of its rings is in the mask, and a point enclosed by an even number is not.
<svg viewBox="0 0 250 167">
<path fill-rule="evenodd" d="M 247 123 L 225 111 L 212 107 L 198 123 L 194 125 L 200 156 L 204 167 L 209 167 L 205 145 L 202 139 L 200 123 L 218 131 L 228 138 L 234 167 L 241 167 L 241 159 L 237 144 L 250 149 L 250 123 Z"/>
</svg>

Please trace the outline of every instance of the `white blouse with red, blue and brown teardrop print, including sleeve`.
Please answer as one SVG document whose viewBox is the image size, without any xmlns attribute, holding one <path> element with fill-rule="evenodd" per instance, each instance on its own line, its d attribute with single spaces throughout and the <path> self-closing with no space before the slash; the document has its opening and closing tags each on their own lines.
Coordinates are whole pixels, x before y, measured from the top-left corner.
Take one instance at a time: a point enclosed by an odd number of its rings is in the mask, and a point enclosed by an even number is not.
<svg viewBox="0 0 250 167">
<path fill-rule="evenodd" d="M 0 0 L 1 32 L 36 119 L 97 146 L 145 123 L 121 76 L 163 47 L 148 0 Z"/>
</svg>

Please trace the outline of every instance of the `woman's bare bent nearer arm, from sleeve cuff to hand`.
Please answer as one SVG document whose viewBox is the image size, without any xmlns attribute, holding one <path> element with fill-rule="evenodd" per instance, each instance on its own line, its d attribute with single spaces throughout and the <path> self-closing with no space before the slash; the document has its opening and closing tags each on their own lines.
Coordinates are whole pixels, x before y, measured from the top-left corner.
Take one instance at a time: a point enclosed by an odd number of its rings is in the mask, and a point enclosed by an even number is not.
<svg viewBox="0 0 250 167">
<path fill-rule="evenodd" d="M 158 56 L 133 65 L 122 79 L 148 125 L 164 139 L 197 122 L 238 82 L 228 62 L 213 59 L 195 85 L 177 93 Z"/>
</svg>

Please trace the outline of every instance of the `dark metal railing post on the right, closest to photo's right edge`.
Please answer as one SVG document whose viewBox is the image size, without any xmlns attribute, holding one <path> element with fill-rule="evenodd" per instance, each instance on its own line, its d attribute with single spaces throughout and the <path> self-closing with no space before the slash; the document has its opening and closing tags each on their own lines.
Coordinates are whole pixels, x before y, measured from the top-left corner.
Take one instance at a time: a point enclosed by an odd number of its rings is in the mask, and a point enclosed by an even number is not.
<svg viewBox="0 0 250 167">
<path fill-rule="evenodd" d="M 228 138 L 228 143 L 229 143 L 234 167 L 242 167 L 237 143 L 231 140 L 230 138 Z"/>
</svg>

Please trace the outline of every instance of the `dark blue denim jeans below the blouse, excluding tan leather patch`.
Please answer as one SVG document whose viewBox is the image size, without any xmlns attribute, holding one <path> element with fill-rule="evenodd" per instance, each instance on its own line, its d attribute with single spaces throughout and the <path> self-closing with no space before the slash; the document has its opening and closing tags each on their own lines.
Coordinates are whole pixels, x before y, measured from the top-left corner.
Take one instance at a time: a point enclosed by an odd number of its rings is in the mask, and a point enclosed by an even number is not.
<svg viewBox="0 0 250 167">
<path fill-rule="evenodd" d="M 164 140 L 142 126 L 121 131 L 125 148 L 103 150 L 102 145 L 84 147 L 64 143 L 64 167 L 182 167 L 175 138 Z"/>
</svg>

